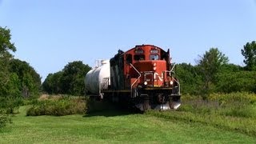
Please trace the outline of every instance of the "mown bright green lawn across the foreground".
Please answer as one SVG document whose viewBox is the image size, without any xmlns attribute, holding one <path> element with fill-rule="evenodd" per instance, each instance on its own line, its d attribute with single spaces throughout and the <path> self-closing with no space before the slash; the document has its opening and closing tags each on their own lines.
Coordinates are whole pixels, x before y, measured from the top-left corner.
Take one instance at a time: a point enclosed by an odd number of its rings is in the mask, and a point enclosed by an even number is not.
<svg viewBox="0 0 256 144">
<path fill-rule="evenodd" d="M 26 106 L 0 131 L 0 143 L 256 143 L 256 138 L 152 114 L 26 116 Z"/>
</svg>

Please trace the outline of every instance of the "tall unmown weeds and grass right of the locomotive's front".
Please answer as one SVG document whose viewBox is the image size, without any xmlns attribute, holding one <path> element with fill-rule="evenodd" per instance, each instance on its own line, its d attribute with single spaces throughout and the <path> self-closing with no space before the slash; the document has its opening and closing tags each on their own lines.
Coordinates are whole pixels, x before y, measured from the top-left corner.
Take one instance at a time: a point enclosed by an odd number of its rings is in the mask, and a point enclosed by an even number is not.
<svg viewBox="0 0 256 144">
<path fill-rule="evenodd" d="M 178 110 L 161 113 L 150 111 L 148 114 L 256 136 L 256 94 L 210 94 L 207 101 L 197 96 L 183 95 L 182 106 Z"/>
</svg>

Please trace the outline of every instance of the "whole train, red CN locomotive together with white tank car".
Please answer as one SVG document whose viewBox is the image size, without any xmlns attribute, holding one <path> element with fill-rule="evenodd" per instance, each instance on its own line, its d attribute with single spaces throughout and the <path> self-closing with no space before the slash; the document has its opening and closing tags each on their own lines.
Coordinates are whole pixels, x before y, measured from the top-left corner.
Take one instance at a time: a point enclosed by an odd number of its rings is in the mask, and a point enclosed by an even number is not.
<svg viewBox="0 0 256 144">
<path fill-rule="evenodd" d="M 139 45 L 118 50 L 86 74 L 86 94 L 142 111 L 178 109 L 180 84 L 174 70 L 169 49 Z"/>
</svg>

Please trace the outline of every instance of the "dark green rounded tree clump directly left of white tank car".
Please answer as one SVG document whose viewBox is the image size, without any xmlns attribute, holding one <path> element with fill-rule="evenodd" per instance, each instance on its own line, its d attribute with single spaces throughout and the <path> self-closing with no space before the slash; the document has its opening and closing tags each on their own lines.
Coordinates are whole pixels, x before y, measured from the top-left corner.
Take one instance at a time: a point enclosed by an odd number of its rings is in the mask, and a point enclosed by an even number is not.
<svg viewBox="0 0 256 144">
<path fill-rule="evenodd" d="M 48 74 L 42 88 L 49 94 L 84 95 L 84 78 L 90 69 L 82 61 L 69 62 L 62 71 Z"/>
</svg>

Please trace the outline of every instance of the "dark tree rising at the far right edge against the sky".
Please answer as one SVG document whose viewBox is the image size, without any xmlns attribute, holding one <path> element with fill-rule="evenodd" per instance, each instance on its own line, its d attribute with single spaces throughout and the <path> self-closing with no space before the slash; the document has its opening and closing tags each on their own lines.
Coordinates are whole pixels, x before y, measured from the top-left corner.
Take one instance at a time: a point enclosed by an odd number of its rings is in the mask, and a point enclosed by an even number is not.
<svg viewBox="0 0 256 144">
<path fill-rule="evenodd" d="M 243 46 L 241 50 L 242 55 L 245 57 L 243 62 L 246 63 L 247 70 L 256 70 L 256 42 L 247 42 L 246 46 Z"/>
</svg>

